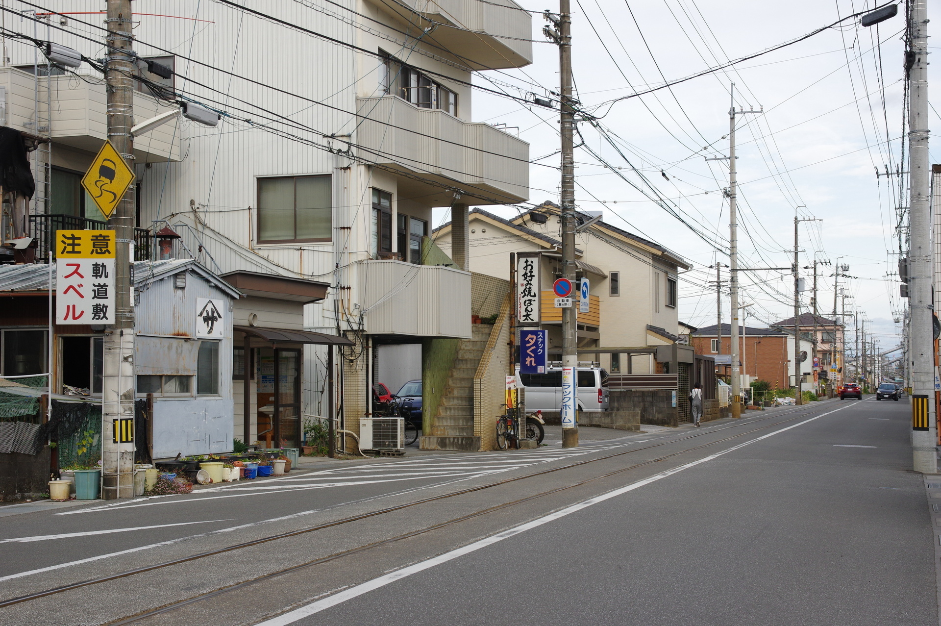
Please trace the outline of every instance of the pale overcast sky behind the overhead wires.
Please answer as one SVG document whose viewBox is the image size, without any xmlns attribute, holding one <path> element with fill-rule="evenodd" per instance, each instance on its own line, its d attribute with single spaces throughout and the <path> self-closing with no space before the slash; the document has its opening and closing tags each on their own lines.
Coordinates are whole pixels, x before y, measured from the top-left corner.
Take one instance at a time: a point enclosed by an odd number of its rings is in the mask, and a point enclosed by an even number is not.
<svg viewBox="0 0 941 626">
<path fill-rule="evenodd" d="M 547 3 L 523 0 L 521 4 L 542 10 Z M 654 239 L 694 263 L 695 270 L 681 283 L 681 320 L 696 326 L 715 323 L 715 293 L 707 283 L 714 279 L 714 271 L 707 267 L 716 256 L 703 237 L 727 245 L 728 206 L 722 189 L 728 185 L 728 167 L 727 161 L 707 162 L 704 157 L 728 153 L 728 139 L 723 137 L 728 135 L 729 84 L 734 82 L 739 108 L 764 111 L 742 115 L 737 124 L 740 265 L 789 266 L 791 257 L 782 250 L 792 248 L 795 207 L 805 205 L 798 209 L 800 217 L 822 221 L 800 226 L 801 265 L 809 265 L 815 256 L 831 264 L 820 266 L 821 314 L 833 311 L 832 275 L 839 259 L 850 266 L 847 274 L 856 277 L 841 280 L 847 296 L 852 296 L 846 299 L 847 312 L 865 312 L 880 344 L 897 345 L 900 327 L 893 317 L 900 316 L 903 305 L 899 283 L 886 273 L 897 271 L 899 243 L 893 235 L 899 177 L 877 179 L 875 169 L 899 165 L 901 13 L 878 30 L 862 28 L 858 19 L 848 20 L 840 29 L 744 61 L 734 71 L 605 104 L 635 89 L 662 84 L 664 77 L 675 80 L 796 39 L 867 6 L 874 5 L 858 0 L 854 4 L 849 0 L 786 4 L 634 0 L 629 7 L 624 0 L 572 0 L 574 75 L 582 106 L 601 116 L 600 123 L 616 135 L 633 167 L 703 236 L 600 167 L 584 150 L 576 151 L 577 203 L 583 210 L 603 210 L 606 221 Z M 936 6 L 930 3 L 930 8 Z M 534 40 L 545 40 L 544 24 L 535 14 Z M 532 83 L 528 89 L 545 96 L 547 88 L 557 90 L 558 49 L 534 43 L 531 66 L 486 73 L 524 89 Z M 486 80 L 475 80 L 493 87 Z M 550 112 L 529 110 L 480 91 L 473 107 L 475 121 L 518 126 L 519 135 L 532 145 L 533 158 L 558 150 L 557 117 Z M 941 123 L 934 112 L 931 116 Z M 624 168 L 620 171 L 630 181 L 642 184 L 625 158 L 589 124 L 581 123 L 580 128 L 593 151 L 614 167 Z M 710 149 L 703 150 L 705 146 Z M 935 149 L 932 162 L 939 157 L 941 152 Z M 541 163 L 557 167 L 559 157 Z M 558 201 L 556 169 L 534 165 L 531 180 L 531 201 Z M 727 257 L 720 260 L 727 264 Z M 802 271 L 809 289 L 811 272 Z M 742 292 L 742 303 L 755 302 L 749 326 L 765 326 L 792 314 L 792 280 L 786 272 L 742 276 Z M 805 306 L 809 296 L 805 293 Z M 852 326 L 853 318 L 847 320 Z"/>
</svg>

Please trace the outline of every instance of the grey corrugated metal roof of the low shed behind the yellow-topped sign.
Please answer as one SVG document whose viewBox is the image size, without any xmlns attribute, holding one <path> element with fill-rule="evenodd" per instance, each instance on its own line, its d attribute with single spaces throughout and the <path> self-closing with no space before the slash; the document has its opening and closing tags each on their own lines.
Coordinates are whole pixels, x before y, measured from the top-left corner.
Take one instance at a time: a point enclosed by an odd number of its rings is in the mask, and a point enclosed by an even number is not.
<svg viewBox="0 0 941 626">
<path fill-rule="evenodd" d="M 134 264 L 136 285 L 159 281 L 183 270 L 192 270 L 207 281 L 212 281 L 231 297 L 241 294 L 228 282 L 192 259 L 167 259 L 166 261 L 138 261 Z M 45 292 L 49 289 L 49 274 L 56 281 L 56 264 L 0 265 L 0 293 Z"/>
</svg>

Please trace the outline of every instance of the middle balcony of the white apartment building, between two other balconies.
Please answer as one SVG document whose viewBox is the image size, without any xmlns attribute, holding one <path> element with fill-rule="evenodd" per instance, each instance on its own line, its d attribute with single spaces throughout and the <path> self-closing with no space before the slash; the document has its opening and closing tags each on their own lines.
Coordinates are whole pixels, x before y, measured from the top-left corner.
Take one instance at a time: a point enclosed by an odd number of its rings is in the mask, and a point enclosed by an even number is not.
<svg viewBox="0 0 941 626">
<path fill-rule="evenodd" d="M 529 198 L 529 143 L 489 124 L 458 120 L 440 109 L 420 108 L 396 96 L 359 98 L 359 156 L 473 194 L 472 204 Z M 381 120 L 381 121 L 380 121 Z M 403 177 L 399 193 L 431 206 L 450 206 L 454 194 Z"/>
</svg>

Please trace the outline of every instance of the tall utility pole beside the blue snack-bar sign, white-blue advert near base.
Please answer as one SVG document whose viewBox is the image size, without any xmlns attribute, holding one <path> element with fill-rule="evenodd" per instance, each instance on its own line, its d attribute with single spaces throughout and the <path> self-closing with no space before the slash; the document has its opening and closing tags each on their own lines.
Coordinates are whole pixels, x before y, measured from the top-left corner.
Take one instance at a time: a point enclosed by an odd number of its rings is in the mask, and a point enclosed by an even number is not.
<svg viewBox="0 0 941 626">
<path fill-rule="evenodd" d="M 572 102 L 572 18 L 568 0 L 559 0 L 559 74 L 562 97 L 560 117 L 562 131 L 562 276 L 575 283 L 575 111 Z M 575 307 L 562 310 L 562 368 L 571 372 L 570 384 L 576 384 L 579 355 Z M 567 369 L 566 368 L 571 368 Z M 563 379 L 563 389 L 566 381 Z M 579 429 L 575 421 L 575 394 L 563 393 L 562 447 L 579 445 Z"/>
</svg>

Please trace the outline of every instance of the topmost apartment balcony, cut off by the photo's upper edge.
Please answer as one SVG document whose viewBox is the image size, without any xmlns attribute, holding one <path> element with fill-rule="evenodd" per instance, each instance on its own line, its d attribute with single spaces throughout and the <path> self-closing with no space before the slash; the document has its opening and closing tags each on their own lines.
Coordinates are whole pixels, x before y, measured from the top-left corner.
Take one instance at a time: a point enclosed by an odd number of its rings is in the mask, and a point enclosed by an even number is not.
<svg viewBox="0 0 941 626">
<path fill-rule="evenodd" d="M 376 0 L 405 20 L 434 20 L 434 40 L 473 70 L 521 68 L 533 62 L 533 24 L 513 0 Z M 424 26 L 425 24 L 422 24 Z"/>
</svg>

